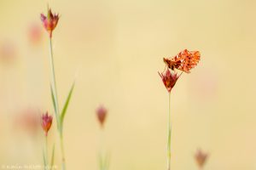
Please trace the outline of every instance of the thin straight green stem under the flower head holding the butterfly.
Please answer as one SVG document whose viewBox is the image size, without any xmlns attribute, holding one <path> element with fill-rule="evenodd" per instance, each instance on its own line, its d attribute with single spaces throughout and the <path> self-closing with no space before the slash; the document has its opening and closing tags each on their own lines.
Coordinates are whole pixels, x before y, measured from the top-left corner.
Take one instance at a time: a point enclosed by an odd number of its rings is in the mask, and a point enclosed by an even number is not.
<svg viewBox="0 0 256 170">
<path fill-rule="evenodd" d="M 169 108 L 168 108 L 168 141 L 167 141 L 167 170 L 171 170 L 171 92 L 169 93 Z"/>
</svg>

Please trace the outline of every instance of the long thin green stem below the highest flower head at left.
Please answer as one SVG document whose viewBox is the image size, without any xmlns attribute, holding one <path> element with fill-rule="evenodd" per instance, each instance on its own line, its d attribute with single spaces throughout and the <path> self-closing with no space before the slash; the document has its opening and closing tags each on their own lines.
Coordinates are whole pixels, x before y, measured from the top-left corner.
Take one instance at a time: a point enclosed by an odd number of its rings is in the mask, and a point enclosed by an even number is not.
<svg viewBox="0 0 256 170">
<path fill-rule="evenodd" d="M 55 117 L 56 117 L 57 127 L 59 130 L 59 136 L 60 136 L 60 143 L 61 143 L 61 157 L 62 157 L 61 167 L 62 167 L 62 170 L 66 170 L 66 161 L 65 161 L 64 146 L 63 146 L 63 133 L 62 133 L 62 125 L 60 122 L 60 110 L 59 110 L 59 101 L 58 101 L 56 80 L 55 80 L 55 65 L 54 65 L 51 37 L 49 37 L 49 54 L 50 54 L 49 60 L 50 60 L 51 73 L 52 73 L 52 91 L 54 94 L 53 96 L 54 96 L 54 102 L 55 102 Z"/>
</svg>

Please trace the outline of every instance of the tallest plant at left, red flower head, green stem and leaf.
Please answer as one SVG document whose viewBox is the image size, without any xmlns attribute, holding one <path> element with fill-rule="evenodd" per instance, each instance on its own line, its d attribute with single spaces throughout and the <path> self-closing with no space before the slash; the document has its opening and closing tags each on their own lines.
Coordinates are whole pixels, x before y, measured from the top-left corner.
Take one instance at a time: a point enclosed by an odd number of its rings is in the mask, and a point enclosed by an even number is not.
<svg viewBox="0 0 256 170">
<path fill-rule="evenodd" d="M 70 88 L 69 93 L 67 95 L 66 102 L 63 105 L 62 110 L 60 110 L 58 94 L 57 94 L 57 86 L 56 86 L 56 80 L 55 80 L 55 65 L 54 65 L 54 56 L 53 56 L 53 48 L 52 48 L 52 34 L 53 34 L 53 31 L 55 30 L 55 27 L 58 24 L 59 14 L 53 14 L 51 12 L 51 9 L 48 8 L 48 13 L 46 15 L 41 14 L 41 20 L 45 30 L 49 33 L 49 61 L 51 66 L 51 77 L 52 77 L 51 85 L 50 85 L 51 98 L 52 98 L 52 102 L 55 110 L 55 120 L 57 122 L 57 128 L 58 128 L 58 133 L 59 133 L 60 143 L 61 143 L 61 167 L 62 167 L 62 170 L 65 170 L 66 159 L 65 159 L 64 144 L 63 144 L 63 122 L 66 116 L 69 101 L 73 94 L 73 88 L 75 83 L 73 82 L 73 85 Z"/>
</svg>

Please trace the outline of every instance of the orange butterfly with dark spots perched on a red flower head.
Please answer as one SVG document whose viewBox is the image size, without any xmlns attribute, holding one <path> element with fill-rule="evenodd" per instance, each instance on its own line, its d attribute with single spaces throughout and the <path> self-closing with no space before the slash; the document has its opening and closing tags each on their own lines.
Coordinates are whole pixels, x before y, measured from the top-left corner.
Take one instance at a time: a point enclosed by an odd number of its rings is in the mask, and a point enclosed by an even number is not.
<svg viewBox="0 0 256 170">
<path fill-rule="evenodd" d="M 198 64 L 201 54 L 199 51 L 189 51 L 184 49 L 172 59 L 164 58 L 164 62 L 172 71 L 174 69 L 189 73 Z"/>
</svg>

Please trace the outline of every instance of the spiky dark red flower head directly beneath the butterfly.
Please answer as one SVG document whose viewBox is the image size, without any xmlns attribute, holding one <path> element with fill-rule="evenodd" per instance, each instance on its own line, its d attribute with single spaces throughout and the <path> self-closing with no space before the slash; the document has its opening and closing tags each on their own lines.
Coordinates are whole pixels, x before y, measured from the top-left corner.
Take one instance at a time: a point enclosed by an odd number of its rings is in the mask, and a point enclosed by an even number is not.
<svg viewBox="0 0 256 170">
<path fill-rule="evenodd" d="M 166 89 L 169 93 L 171 93 L 172 88 L 174 87 L 175 83 L 177 82 L 178 76 L 177 73 L 172 73 L 168 68 L 165 73 L 160 73 L 160 77 L 164 82 Z"/>
</svg>

